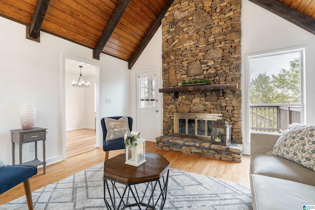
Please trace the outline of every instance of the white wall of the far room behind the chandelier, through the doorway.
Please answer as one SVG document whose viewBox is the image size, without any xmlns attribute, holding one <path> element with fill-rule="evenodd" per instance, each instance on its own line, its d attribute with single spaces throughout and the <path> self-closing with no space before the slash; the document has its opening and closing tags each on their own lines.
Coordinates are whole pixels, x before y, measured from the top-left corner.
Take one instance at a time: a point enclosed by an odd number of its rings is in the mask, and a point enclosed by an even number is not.
<svg viewBox="0 0 315 210">
<path fill-rule="evenodd" d="M 90 83 L 89 88 L 74 88 L 72 81 L 77 81 L 78 75 L 65 74 L 66 130 L 95 128 L 95 76 L 85 79 Z"/>
</svg>

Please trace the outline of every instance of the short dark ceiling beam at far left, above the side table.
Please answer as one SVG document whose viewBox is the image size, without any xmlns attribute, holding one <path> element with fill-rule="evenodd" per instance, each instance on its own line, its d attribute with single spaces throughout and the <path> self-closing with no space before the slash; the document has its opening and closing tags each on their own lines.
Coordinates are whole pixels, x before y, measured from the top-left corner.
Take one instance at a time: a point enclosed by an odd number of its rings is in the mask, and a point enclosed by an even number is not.
<svg viewBox="0 0 315 210">
<path fill-rule="evenodd" d="M 27 38 L 38 39 L 50 0 L 37 0 L 30 27 L 27 27 Z"/>
</svg>

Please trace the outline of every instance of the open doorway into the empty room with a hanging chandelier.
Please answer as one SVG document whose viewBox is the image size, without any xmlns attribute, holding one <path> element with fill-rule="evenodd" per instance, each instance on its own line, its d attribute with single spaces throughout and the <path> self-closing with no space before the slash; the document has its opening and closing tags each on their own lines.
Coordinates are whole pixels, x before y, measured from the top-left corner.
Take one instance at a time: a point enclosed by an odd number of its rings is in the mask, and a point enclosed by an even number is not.
<svg viewBox="0 0 315 210">
<path fill-rule="evenodd" d="M 63 64 L 63 159 L 95 150 L 99 141 L 99 63 L 62 55 Z M 82 66 L 82 67 L 80 67 Z M 73 87 L 80 74 L 90 87 Z"/>
</svg>

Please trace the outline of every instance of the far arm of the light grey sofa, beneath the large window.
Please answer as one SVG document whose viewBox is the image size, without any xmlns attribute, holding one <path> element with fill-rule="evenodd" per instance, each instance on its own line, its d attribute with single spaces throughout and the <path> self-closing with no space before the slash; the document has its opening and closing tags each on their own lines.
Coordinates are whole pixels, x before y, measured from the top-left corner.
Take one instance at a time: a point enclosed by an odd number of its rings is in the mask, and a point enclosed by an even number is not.
<svg viewBox="0 0 315 210">
<path fill-rule="evenodd" d="M 251 133 L 251 154 L 266 153 L 274 149 L 280 133 L 252 132 Z"/>
</svg>

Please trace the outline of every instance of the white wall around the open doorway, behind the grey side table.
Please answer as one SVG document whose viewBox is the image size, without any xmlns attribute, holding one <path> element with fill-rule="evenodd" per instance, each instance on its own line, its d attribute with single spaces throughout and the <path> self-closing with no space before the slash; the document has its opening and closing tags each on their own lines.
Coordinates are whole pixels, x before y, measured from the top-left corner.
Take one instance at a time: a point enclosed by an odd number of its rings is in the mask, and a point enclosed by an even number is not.
<svg viewBox="0 0 315 210">
<path fill-rule="evenodd" d="M 92 49 L 44 32 L 40 33 L 40 43 L 28 40 L 25 26 L 2 17 L 0 28 L 0 156 L 7 164 L 12 163 L 9 130 L 21 128 L 19 108 L 23 103 L 36 107 L 35 126 L 47 128 L 47 162 L 62 159 L 62 53 L 102 65 L 102 117 L 130 114 L 130 70 L 126 61 L 105 54 L 99 61 L 93 60 Z M 112 103 L 106 104 L 106 98 Z M 34 158 L 30 144 L 23 146 L 23 162 Z M 41 145 L 38 143 L 39 159 Z M 17 146 L 15 151 L 17 160 Z"/>
</svg>

